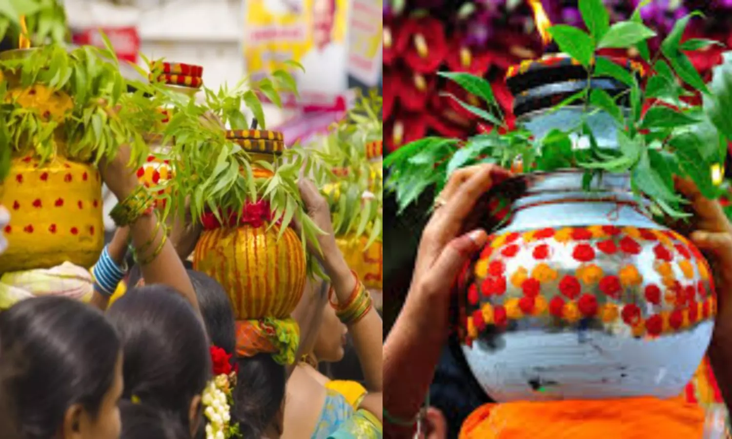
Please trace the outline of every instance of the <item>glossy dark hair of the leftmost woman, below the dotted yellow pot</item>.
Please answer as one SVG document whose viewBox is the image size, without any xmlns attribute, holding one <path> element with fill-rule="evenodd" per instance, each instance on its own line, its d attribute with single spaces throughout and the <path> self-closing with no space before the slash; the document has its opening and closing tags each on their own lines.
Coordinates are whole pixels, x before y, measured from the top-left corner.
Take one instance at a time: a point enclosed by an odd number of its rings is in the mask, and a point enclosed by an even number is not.
<svg viewBox="0 0 732 439">
<path fill-rule="evenodd" d="M 75 404 L 99 414 L 120 352 L 101 312 L 59 296 L 27 299 L 0 313 L 0 334 L 0 394 L 22 438 L 52 438 Z"/>
</svg>

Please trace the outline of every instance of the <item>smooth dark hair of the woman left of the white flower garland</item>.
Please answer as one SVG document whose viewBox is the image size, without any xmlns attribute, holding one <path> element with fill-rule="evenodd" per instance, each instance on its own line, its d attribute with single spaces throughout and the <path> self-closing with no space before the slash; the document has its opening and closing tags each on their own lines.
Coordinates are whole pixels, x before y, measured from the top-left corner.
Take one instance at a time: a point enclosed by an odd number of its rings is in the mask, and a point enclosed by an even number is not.
<svg viewBox="0 0 732 439">
<path fill-rule="evenodd" d="M 127 291 L 108 318 L 122 342 L 123 398 L 134 395 L 190 430 L 190 402 L 211 378 L 209 341 L 193 307 L 173 288 L 150 285 Z"/>
</svg>

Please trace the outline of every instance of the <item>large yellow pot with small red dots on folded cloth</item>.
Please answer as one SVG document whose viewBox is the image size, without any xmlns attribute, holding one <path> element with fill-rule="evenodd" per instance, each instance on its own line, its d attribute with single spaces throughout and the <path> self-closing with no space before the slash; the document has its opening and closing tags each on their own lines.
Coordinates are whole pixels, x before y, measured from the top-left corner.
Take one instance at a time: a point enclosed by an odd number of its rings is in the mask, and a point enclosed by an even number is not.
<svg viewBox="0 0 732 439">
<path fill-rule="evenodd" d="M 7 251 L 0 273 L 48 269 L 66 261 L 89 268 L 104 247 L 102 181 L 92 165 L 56 157 L 40 165 L 12 159 L 0 185 L 0 205 L 10 210 Z"/>
</svg>

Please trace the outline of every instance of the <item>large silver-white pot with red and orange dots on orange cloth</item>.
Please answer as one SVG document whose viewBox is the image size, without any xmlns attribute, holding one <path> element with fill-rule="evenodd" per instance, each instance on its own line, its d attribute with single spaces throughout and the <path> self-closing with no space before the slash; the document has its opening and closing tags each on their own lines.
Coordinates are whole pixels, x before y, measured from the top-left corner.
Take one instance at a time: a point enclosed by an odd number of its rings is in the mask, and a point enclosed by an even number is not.
<svg viewBox="0 0 732 439">
<path fill-rule="evenodd" d="M 507 226 L 462 279 L 478 382 L 499 402 L 681 394 L 717 310 L 698 249 L 643 214 L 626 175 L 592 192 L 579 170 L 519 179 Z"/>
</svg>

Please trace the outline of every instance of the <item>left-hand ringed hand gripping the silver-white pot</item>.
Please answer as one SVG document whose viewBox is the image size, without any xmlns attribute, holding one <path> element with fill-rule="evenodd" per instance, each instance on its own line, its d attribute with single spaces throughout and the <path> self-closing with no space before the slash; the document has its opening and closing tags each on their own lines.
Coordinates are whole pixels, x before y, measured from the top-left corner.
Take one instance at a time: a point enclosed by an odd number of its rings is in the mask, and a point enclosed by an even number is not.
<svg viewBox="0 0 732 439">
<path fill-rule="evenodd" d="M 466 230 L 475 204 L 493 184 L 509 176 L 508 170 L 496 165 L 475 165 L 452 175 L 422 232 L 408 300 L 410 296 L 447 299 L 460 269 L 488 239 L 485 230 Z"/>
</svg>

